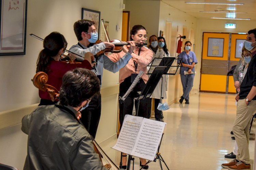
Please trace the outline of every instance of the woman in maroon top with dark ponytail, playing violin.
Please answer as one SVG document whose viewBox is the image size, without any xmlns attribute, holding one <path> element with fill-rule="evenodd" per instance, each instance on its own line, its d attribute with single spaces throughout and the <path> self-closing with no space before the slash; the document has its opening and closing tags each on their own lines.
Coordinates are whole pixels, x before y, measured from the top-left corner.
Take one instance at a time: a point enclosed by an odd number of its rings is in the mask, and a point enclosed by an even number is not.
<svg viewBox="0 0 256 170">
<path fill-rule="evenodd" d="M 87 68 L 91 70 L 91 64 L 84 60 L 81 64 L 70 64 L 60 62 L 60 56 L 65 52 L 68 43 L 65 37 L 58 33 L 52 32 L 47 35 L 43 42 L 44 49 L 39 53 L 37 60 L 37 72 L 43 71 L 48 75 L 47 84 L 54 86 L 60 90 L 62 76 L 69 70 L 77 67 Z M 41 98 L 39 105 L 55 104 L 47 92 L 39 90 Z"/>
</svg>

